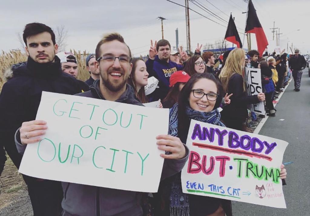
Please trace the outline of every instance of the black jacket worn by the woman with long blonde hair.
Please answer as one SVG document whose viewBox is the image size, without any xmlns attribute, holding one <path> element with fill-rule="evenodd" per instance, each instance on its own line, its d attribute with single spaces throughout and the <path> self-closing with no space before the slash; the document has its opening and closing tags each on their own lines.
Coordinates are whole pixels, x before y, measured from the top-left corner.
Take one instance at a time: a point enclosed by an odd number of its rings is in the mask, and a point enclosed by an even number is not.
<svg viewBox="0 0 310 216">
<path fill-rule="evenodd" d="M 233 93 L 230 97 L 230 104 L 223 107 L 221 112 L 222 119 L 242 119 L 246 120 L 248 116 L 247 107 L 249 104 L 258 103 L 257 95 L 248 96 L 243 91 L 243 78 L 240 74 L 233 74 L 228 81 L 228 95 Z"/>
</svg>

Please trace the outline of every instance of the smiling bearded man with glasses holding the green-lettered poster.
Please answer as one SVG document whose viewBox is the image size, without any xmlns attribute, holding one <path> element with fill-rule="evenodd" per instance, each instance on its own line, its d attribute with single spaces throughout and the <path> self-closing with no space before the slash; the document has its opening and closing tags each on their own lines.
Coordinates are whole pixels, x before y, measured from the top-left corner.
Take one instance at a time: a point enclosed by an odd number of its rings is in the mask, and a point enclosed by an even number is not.
<svg viewBox="0 0 310 216">
<path fill-rule="evenodd" d="M 95 67 L 100 71 L 100 80 L 95 81 L 91 91 L 80 93 L 79 96 L 143 106 L 135 100 L 133 89 L 126 85 L 132 68 L 131 52 L 120 34 L 108 34 L 100 40 L 96 47 L 96 60 Z M 24 122 L 15 137 L 18 150 L 23 152 L 27 144 L 42 140 L 47 125 L 48 123 L 43 120 Z M 183 168 L 188 159 L 188 149 L 177 137 L 159 135 L 156 139 L 159 150 L 171 152 L 170 155 L 160 155 L 165 159 L 161 176 L 163 179 L 178 173 Z M 126 179 L 123 181 L 126 182 Z M 67 182 L 62 184 L 63 216 L 142 215 L 139 205 L 141 196 L 136 191 Z M 70 193 L 67 193 L 68 191 Z"/>
</svg>

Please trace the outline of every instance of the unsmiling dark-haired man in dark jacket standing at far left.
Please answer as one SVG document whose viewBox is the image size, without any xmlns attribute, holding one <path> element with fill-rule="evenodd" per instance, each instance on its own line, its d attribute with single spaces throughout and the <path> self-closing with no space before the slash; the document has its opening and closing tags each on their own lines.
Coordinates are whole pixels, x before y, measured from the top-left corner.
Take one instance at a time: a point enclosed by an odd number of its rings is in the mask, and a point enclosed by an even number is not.
<svg viewBox="0 0 310 216">
<path fill-rule="evenodd" d="M 29 23 L 23 34 L 28 61 L 13 65 L 13 78 L 3 85 L 0 94 L 0 137 L 7 154 L 17 168 L 22 156 L 18 153 L 14 133 L 23 122 L 36 118 L 42 91 L 63 94 L 81 92 L 77 80 L 61 71 L 55 34 L 41 23 Z M 34 129 L 34 128 L 33 128 Z M 28 135 L 27 135 L 28 136 Z M 34 216 L 55 216 L 61 212 L 60 182 L 23 175 Z"/>
</svg>

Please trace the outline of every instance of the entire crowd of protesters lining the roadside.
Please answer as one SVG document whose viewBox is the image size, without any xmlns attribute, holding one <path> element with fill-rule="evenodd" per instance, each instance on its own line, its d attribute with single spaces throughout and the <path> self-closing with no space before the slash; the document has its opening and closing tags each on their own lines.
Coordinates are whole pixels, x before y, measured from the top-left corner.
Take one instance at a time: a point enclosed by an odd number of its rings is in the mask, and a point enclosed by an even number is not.
<svg viewBox="0 0 310 216">
<path fill-rule="evenodd" d="M 299 91 L 300 71 L 305 67 L 297 49 L 293 56 L 287 53 L 259 56 L 255 50 L 246 53 L 235 48 L 216 57 L 212 52 L 201 54 L 198 44 L 191 56 L 182 47 L 171 51 L 165 39 L 151 41 L 149 58 L 144 62 L 132 58 L 124 38 L 112 33 L 105 35 L 94 47 L 95 53 L 87 56 L 90 78 L 84 83 L 76 79 L 77 58 L 70 52 L 56 55 L 58 47 L 50 27 L 27 24 L 23 39 L 28 61 L 12 66 L 14 77 L 4 84 L 0 95 L 0 112 L 6 113 L 0 118 L 3 164 L 0 171 L 6 160 L 4 149 L 18 168 L 26 145 L 38 142 L 39 136 L 45 134 L 48 123 L 44 119 L 34 120 L 42 91 L 138 106 L 160 99 L 161 107 L 170 108 L 169 133 L 157 137 L 159 149 L 169 151 L 170 155 L 161 155 L 165 158 L 161 183 L 152 197 L 135 191 L 23 175 L 34 216 L 232 215 L 229 200 L 182 193 L 180 171 L 189 154 L 185 144 L 190 119 L 253 132 L 253 126 L 265 116 L 257 117 L 248 106 L 265 101 L 267 115 L 275 116 L 273 103 L 277 93 L 283 91 L 291 74 L 294 90 Z M 246 93 L 245 66 L 261 68 L 263 92 L 258 95 Z M 145 87 L 151 76 L 158 79 L 158 88 L 146 95 Z M 286 169 L 280 165 L 280 177 L 284 180 Z"/>
</svg>

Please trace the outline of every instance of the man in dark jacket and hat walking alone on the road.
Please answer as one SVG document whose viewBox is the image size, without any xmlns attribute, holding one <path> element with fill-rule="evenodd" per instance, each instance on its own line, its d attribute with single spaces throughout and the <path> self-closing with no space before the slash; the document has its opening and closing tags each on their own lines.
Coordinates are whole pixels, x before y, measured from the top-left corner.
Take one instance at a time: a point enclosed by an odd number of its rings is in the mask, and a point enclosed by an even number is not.
<svg viewBox="0 0 310 216">
<path fill-rule="evenodd" d="M 293 71 L 293 78 L 294 78 L 294 91 L 300 91 L 300 83 L 301 83 L 301 76 L 303 75 L 303 69 L 306 67 L 306 60 L 305 58 L 299 54 L 299 49 L 295 49 L 295 55 L 290 57 L 290 69 Z"/>
</svg>

